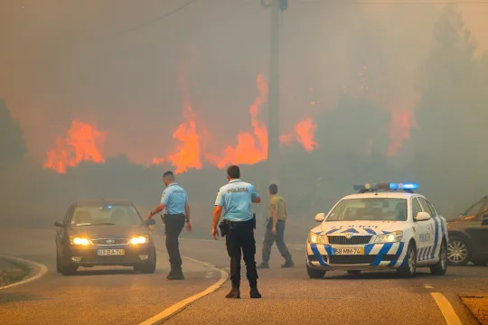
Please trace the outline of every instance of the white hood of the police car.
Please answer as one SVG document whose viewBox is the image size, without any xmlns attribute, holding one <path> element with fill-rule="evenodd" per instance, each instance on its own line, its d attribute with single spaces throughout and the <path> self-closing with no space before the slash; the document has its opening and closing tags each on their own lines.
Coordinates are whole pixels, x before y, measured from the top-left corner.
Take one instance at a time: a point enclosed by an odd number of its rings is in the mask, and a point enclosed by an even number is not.
<svg viewBox="0 0 488 325">
<path fill-rule="evenodd" d="M 341 233 L 388 234 L 405 228 L 407 221 L 325 221 L 312 229 L 315 234 L 335 235 Z"/>
</svg>

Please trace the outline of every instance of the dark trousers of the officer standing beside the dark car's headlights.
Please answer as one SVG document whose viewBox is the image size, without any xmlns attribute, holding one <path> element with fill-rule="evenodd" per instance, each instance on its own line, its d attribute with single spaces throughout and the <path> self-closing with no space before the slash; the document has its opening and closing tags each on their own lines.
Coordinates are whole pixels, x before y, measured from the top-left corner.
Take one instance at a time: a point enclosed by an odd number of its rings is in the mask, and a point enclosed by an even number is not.
<svg viewBox="0 0 488 325">
<path fill-rule="evenodd" d="M 168 214 L 164 224 L 166 235 L 166 250 L 168 251 L 171 271 L 182 271 L 182 255 L 180 255 L 180 243 L 178 237 L 182 233 L 186 218 L 183 214 Z"/>
</svg>

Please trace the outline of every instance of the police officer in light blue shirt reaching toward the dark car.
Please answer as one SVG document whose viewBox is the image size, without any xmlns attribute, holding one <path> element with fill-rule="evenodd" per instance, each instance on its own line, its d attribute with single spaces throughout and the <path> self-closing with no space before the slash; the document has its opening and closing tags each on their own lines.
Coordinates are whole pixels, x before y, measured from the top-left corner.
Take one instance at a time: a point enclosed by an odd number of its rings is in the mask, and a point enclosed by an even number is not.
<svg viewBox="0 0 488 325">
<path fill-rule="evenodd" d="M 180 255 L 178 237 L 182 233 L 185 223 L 186 230 L 192 231 L 190 205 L 186 191 L 174 181 L 173 172 L 164 172 L 163 181 L 166 189 L 163 191 L 161 203 L 150 212 L 148 218 L 151 219 L 156 213 L 166 209 L 163 222 L 165 225 L 166 250 L 171 264 L 171 271 L 166 279 L 183 280 L 182 256 Z"/>
</svg>

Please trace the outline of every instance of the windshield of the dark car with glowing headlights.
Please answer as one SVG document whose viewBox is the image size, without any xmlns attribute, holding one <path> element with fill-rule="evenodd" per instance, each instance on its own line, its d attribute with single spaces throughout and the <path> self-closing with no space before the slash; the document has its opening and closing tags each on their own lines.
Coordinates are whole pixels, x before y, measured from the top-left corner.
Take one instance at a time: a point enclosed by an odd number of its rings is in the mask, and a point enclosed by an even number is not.
<svg viewBox="0 0 488 325">
<path fill-rule="evenodd" d="M 76 207 L 70 222 L 80 226 L 139 226 L 142 220 L 136 209 L 130 205 L 110 205 L 105 207 Z"/>
</svg>

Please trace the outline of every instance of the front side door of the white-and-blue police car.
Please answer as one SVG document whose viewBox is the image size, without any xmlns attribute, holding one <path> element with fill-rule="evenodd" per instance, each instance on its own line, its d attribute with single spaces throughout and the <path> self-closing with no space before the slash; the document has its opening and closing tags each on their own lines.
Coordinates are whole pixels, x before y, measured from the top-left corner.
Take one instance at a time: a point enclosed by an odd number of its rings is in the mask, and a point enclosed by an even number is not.
<svg viewBox="0 0 488 325">
<path fill-rule="evenodd" d="M 418 200 L 420 207 L 423 212 L 427 212 L 429 215 L 431 214 L 430 209 L 427 205 L 427 200 L 422 197 L 414 198 L 413 200 Z M 436 240 L 435 233 L 435 223 L 434 218 L 430 216 L 430 219 L 425 221 L 416 221 L 418 225 L 417 236 L 418 236 L 418 251 L 417 251 L 417 261 L 421 264 L 424 261 L 429 261 L 434 258 L 433 250 L 435 245 L 434 242 Z M 437 238 L 438 240 L 438 238 Z"/>
</svg>

